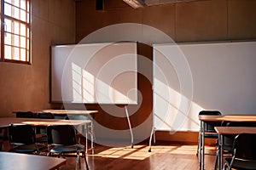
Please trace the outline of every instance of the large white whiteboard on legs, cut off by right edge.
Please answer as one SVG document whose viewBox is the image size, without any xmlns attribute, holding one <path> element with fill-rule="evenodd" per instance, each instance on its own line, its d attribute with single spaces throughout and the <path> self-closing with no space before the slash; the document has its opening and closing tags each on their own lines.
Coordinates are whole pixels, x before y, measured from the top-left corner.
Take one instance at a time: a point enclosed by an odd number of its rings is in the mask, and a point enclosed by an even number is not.
<svg viewBox="0 0 256 170">
<path fill-rule="evenodd" d="M 188 68 L 168 61 L 183 58 L 191 71 L 192 98 L 186 89 L 181 92 L 180 86 L 183 71 Z M 154 128 L 198 131 L 201 110 L 218 110 L 224 115 L 256 114 L 255 64 L 256 42 L 155 44 Z M 189 83 L 188 78 L 183 88 L 190 89 Z"/>
</svg>

